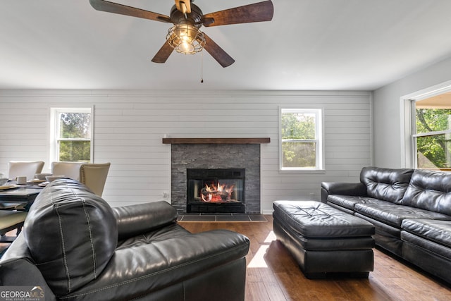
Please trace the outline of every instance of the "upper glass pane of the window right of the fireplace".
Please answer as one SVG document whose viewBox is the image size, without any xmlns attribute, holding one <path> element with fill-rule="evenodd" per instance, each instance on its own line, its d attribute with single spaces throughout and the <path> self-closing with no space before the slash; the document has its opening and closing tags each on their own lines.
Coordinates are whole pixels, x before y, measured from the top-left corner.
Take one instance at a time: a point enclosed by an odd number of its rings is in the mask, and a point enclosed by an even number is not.
<svg viewBox="0 0 451 301">
<path fill-rule="evenodd" d="M 315 117 L 315 113 L 282 113 L 282 139 L 316 139 Z"/>
</svg>

